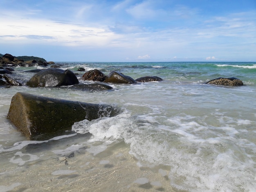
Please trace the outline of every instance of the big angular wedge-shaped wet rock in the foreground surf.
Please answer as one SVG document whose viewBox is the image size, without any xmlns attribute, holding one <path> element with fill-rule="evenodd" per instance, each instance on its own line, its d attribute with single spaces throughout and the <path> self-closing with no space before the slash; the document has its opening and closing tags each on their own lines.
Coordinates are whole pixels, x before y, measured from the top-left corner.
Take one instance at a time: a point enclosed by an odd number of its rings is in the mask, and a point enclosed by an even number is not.
<svg viewBox="0 0 256 192">
<path fill-rule="evenodd" d="M 16 93 L 7 118 L 30 140 L 47 140 L 71 132 L 77 121 L 115 116 L 119 108 L 111 105 L 47 98 Z"/>
</svg>

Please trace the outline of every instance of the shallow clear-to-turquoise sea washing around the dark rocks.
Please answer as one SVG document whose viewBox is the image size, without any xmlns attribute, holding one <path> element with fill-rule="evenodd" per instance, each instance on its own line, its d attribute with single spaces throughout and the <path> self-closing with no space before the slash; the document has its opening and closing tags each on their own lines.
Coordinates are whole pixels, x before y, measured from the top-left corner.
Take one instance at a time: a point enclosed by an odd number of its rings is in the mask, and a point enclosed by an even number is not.
<svg viewBox="0 0 256 192">
<path fill-rule="evenodd" d="M 110 90 L 28 87 L 31 69 L 13 67 L 22 86 L 0 87 L 0 192 L 255 192 L 256 63 L 55 62 L 81 84 L 85 71 L 134 79 Z M 78 71 L 82 67 L 85 71 Z M 243 86 L 206 84 L 236 77 Z M 7 119 L 17 92 L 120 107 L 114 117 L 72 125 L 72 133 L 29 141 Z M 22 118 L 22 116 L 18 117 Z"/>
</svg>

